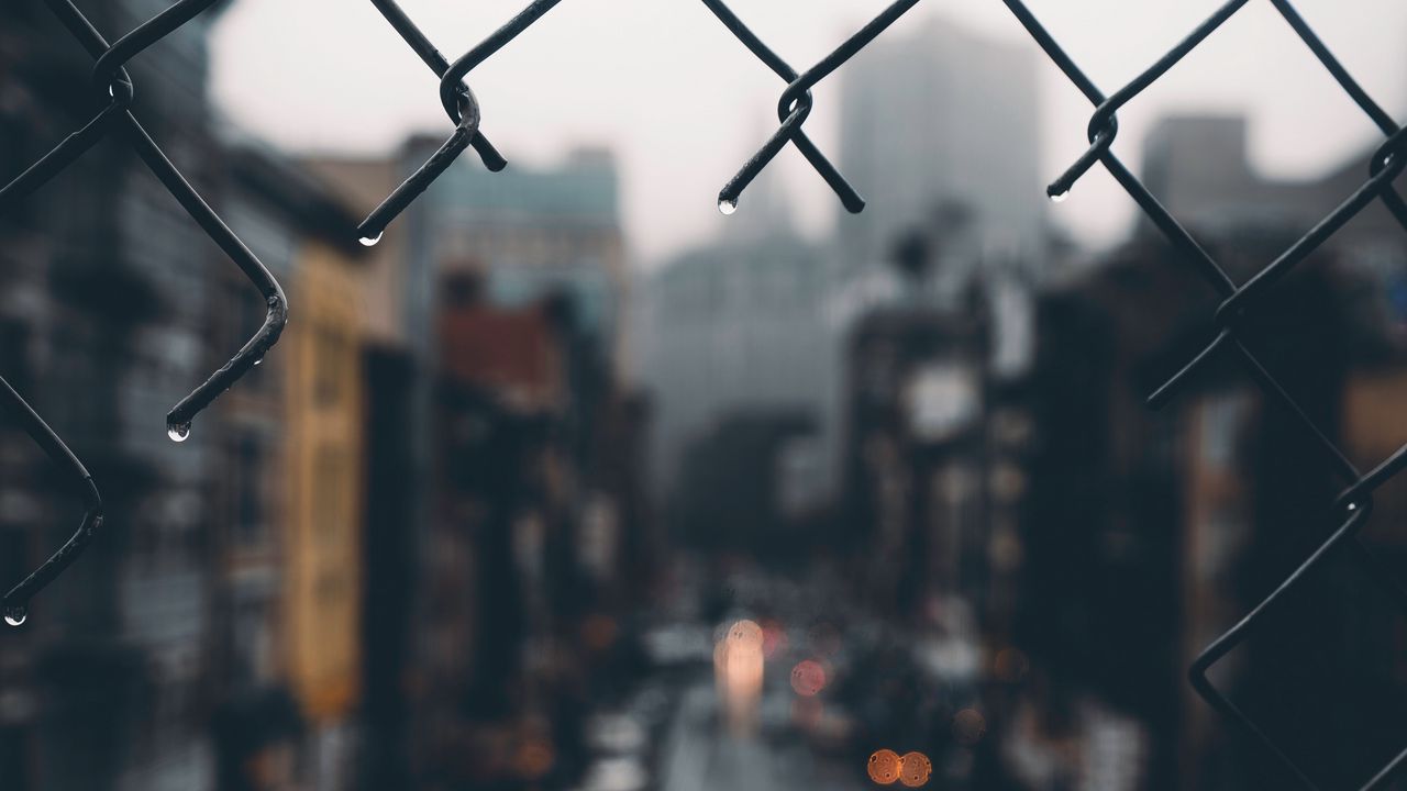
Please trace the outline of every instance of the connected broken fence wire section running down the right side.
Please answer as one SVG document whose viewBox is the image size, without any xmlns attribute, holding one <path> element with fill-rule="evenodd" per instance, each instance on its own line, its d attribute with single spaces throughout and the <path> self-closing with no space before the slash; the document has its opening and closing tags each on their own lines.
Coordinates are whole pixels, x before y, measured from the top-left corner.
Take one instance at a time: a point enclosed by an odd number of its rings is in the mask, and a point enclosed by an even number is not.
<svg viewBox="0 0 1407 791">
<path fill-rule="evenodd" d="M 1119 134 L 1119 110 L 1148 89 L 1159 77 L 1168 73 L 1182 58 L 1197 48 L 1207 37 L 1216 32 L 1227 20 L 1235 15 L 1249 0 L 1233 0 L 1225 3 L 1204 23 L 1197 25 L 1172 51 L 1159 58 L 1145 72 L 1138 75 L 1127 86 L 1119 89 L 1112 96 L 1104 96 L 1099 87 L 1075 65 L 1071 56 L 1059 46 L 1054 37 L 1041 25 L 1040 20 L 1026 7 L 1023 0 L 1002 0 L 1016 15 L 1027 32 L 1036 39 L 1051 61 L 1065 73 L 1067 77 L 1095 104 L 1095 114 L 1089 121 L 1089 149 L 1072 165 L 1059 179 L 1051 183 L 1047 193 L 1054 200 L 1062 200 L 1071 187 L 1097 162 L 1109 170 L 1120 186 L 1134 198 L 1144 214 L 1168 238 L 1178 251 L 1179 259 L 1186 260 L 1197 273 L 1207 280 L 1211 289 L 1221 298 L 1214 319 L 1214 338 L 1197 353 L 1186 366 L 1172 376 L 1165 384 L 1158 387 L 1150 397 L 1148 405 L 1158 408 L 1185 386 L 1197 372 L 1204 369 L 1213 359 L 1231 355 L 1251 374 L 1266 397 L 1289 411 L 1294 421 L 1303 428 L 1306 436 L 1318 452 L 1330 462 L 1335 472 L 1344 479 L 1346 488 L 1334 502 L 1334 512 L 1342 519 L 1341 526 L 1316 549 L 1289 577 L 1286 577 L 1271 595 L 1261 601 L 1234 628 L 1217 638 L 1192 663 L 1189 678 L 1192 687 L 1217 712 L 1242 728 L 1247 733 L 1261 742 L 1285 767 L 1300 781 L 1304 788 L 1318 790 L 1310 777 L 1290 756 L 1289 750 L 1272 739 L 1259 723 L 1252 721 L 1228 697 L 1221 694 L 1210 681 L 1207 673 L 1227 653 L 1244 643 L 1268 611 L 1276 608 L 1289 591 L 1303 583 L 1303 580 L 1320 564 L 1325 563 L 1337 550 L 1342 548 L 1349 553 L 1349 559 L 1363 570 L 1370 578 L 1382 584 L 1392 597 L 1407 608 L 1407 591 L 1396 580 L 1383 571 L 1369 556 L 1368 549 L 1358 539 L 1358 533 L 1368 522 L 1373 510 L 1373 491 L 1383 486 L 1407 466 L 1407 446 L 1400 448 L 1389 459 L 1377 464 L 1366 474 L 1359 472 L 1338 446 L 1330 441 L 1328 435 L 1310 419 L 1293 396 L 1279 383 L 1255 355 L 1242 342 L 1242 329 L 1247 318 L 1272 294 L 1272 286 L 1285 277 L 1296 265 L 1303 262 L 1310 253 L 1318 249 L 1335 232 L 1338 232 L 1359 211 L 1372 201 L 1379 200 L 1403 228 L 1407 228 L 1407 204 L 1393 189 L 1392 182 L 1407 167 L 1407 132 L 1399 128 L 1397 122 L 1354 80 L 1342 63 L 1324 45 L 1323 39 L 1304 21 L 1287 0 L 1269 0 L 1276 11 L 1289 23 L 1296 35 L 1310 48 L 1320 63 L 1332 75 L 1334 80 L 1358 104 L 1359 108 L 1382 129 L 1386 141 L 1373 153 L 1369 163 L 1368 179 L 1342 204 L 1321 220 L 1314 228 L 1296 241 L 1285 253 L 1256 272 L 1245 283 L 1237 284 L 1227 272 L 1202 249 L 1192 235 L 1175 220 L 1166 208 L 1148 191 L 1148 189 L 1120 162 L 1113 152 L 1113 142 Z M 1403 764 L 1407 763 L 1407 749 L 1399 753 L 1387 766 L 1377 770 L 1362 787 L 1361 791 L 1382 788 L 1396 778 Z"/>
</svg>

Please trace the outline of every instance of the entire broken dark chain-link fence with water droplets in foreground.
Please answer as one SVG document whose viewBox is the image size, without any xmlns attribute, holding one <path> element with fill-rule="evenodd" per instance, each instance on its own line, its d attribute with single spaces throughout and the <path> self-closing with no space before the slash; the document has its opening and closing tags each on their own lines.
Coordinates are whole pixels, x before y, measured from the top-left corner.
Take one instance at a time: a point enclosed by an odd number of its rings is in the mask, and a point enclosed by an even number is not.
<svg viewBox="0 0 1407 791">
<path fill-rule="evenodd" d="M 190 432 L 191 419 L 210 405 L 219 393 L 228 390 L 239 377 L 259 365 L 263 355 L 277 342 L 287 321 L 284 294 L 274 277 L 210 208 L 129 111 L 135 86 L 124 65 L 165 35 L 210 8 L 215 0 L 179 0 L 113 44 L 90 24 L 70 0 L 45 1 L 75 41 L 94 59 L 89 90 L 94 91 L 94 106 L 100 106 L 100 108 L 86 125 L 70 134 L 48 155 L 0 190 L 0 214 L 13 210 L 18 201 L 37 189 L 41 189 L 104 137 L 120 137 L 128 142 L 132 151 L 136 152 L 156 179 L 182 204 L 186 213 L 239 266 L 245 276 L 263 294 L 267 304 L 267 315 L 257 334 L 239 349 L 229 363 L 170 410 L 167 415 L 170 436 L 177 442 L 184 441 Z M 704 0 L 704 4 L 758 61 L 788 83 L 777 106 L 779 128 L 719 193 L 720 211 L 732 214 L 736 210 L 741 193 L 787 144 L 796 146 L 830 189 L 834 190 L 848 211 L 858 213 L 864 208 L 864 198 L 816 148 L 802 128 L 813 107 L 810 89 L 874 41 L 915 7 L 917 1 L 898 0 L 889 4 L 878 17 L 846 39 L 844 44 L 825 59 L 805 72 L 796 72 L 785 59 L 764 44 L 722 0 Z M 1296 397 L 1280 384 L 1275 373 L 1268 370 L 1251 352 L 1244 342 L 1242 332 L 1256 308 L 1273 298 L 1273 286 L 1372 201 L 1380 200 L 1393 217 L 1407 228 L 1407 203 L 1404 203 L 1403 197 L 1392 186 L 1392 182 L 1407 169 L 1407 151 L 1404 151 L 1407 148 L 1407 132 L 1349 76 L 1346 69 L 1289 1 L 1269 0 L 1344 91 L 1382 129 L 1386 139 L 1372 158 L 1368 177 L 1354 194 L 1348 196 L 1341 205 L 1304 234 L 1278 259 L 1268 263 L 1247 281 L 1235 283 L 1227 270 L 1197 243 L 1188 229 L 1164 208 L 1140 179 L 1119 159 L 1113 151 L 1113 144 L 1119 132 L 1119 110 L 1166 75 L 1188 53 L 1242 10 L 1249 0 L 1233 0 L 1221 6 L 1172 51 L 1161 56 L 1151 68 L 1113 94 L 1103 93 L 1081 70 L 1021 0 L 1002 1 L 1061 72 L 1096 107 L 1088 129 L 1090 148 L 1069 170 L 1050 186 L 1048 194 L 1051 198 L 1057 201 L 1064 200 L 1071 187 L 1095 163 L 1103 165 L 1130 197 L 1134 198 L 1154 227 L 1166 236 L 1179 253 L 1180 260 L 1200 274 L 1221 298 L 1216 312 L 1216 324 L 1211 328 L 1211 341 L 1182 370 L 1148 397 L 1150 407 L 1157 408 L 1165 404 L 1179 387 L 1185 386 L 1211 360 L 1231 356 L 1263 388 L 1269 400 L 1278 403 L 1293 415 L 1309 441 L 1318 448 L 1318 452 L 1346 484 L 1346 488 L 1332 504 L 1341 522 L 1338 529 L 1280 583 L 1269 597 L 1256 605 L 1231 631 L 1213 642 L 1196 659 L 1190 670 L 1190 681 L 1197 694 L 1225 718 L 1259 739 L 1290 768 L 1306 788 L 1318 788 L 1299 768 L 1294 757 L 1287 754 L 1287 750 L 1276 745 L 1256 722 L 1213 687 L 1207 673 L 1228 652 L 1247 640 L 1266 611 L 1278 607 L 1287 591 L 1300 584 L 1309 573 L 1323 564 L 1335 552 L 1351 553 L 1351 557 L 1365 574 L 1380 581 L 1394 597 L 1407 604 L 1407 591 L 1403 591 L 1394 580 L 1376 566 L 1368 556 L 1363 545 L 1358 540 L 1358 532 L 1369 519 L 1373 508 L 1373 493 L 1407 466 L 1407 448 L 1397 450 L 1368 473 L 1361 472 L 1328 438 L 1327 432 L 1309 417 Z M 501 170 L 507 166 L 507 160 L 480 128 L 480 106 L 464 79 L 476 66 L 497 53 L 556 7 L 560 0 L 533 0 L 518 15 L 453 62 L 435 48 L 429 38 L 394 0 L 371 0 L 371 3 L 395 32 L 405 39 L 411 49 L 439 77 L 440 103 L 450 122 L 454 125 L 454 131 L 409 179 L 397 187 L 357 227 L 364 245 L 376 243 L 386 227 L 424 193 L 466 149 L 474 148 L 484 166 L 490 170 Z M 94 531 L 101 525 L 101 500 L 83 464 L 4 380 L 0 380 L 0 403 L 28 431 L 45 453 L 63 469 L 66 476 L 72 479 L 76 488 L 82 493 L 86 507 L 82 525 L 68 543 L 37 571 L 6 594 L 3 600 L 4 615 L 11 624 L 18 624 L 24 619 L 28 600 L 58 577 L 91 540 Z M 1407 761 L 1407 750 L 1376 771 L 1362 788 L 1383 787 L 1397 774 L 1404 761 Z"/>
</svg>

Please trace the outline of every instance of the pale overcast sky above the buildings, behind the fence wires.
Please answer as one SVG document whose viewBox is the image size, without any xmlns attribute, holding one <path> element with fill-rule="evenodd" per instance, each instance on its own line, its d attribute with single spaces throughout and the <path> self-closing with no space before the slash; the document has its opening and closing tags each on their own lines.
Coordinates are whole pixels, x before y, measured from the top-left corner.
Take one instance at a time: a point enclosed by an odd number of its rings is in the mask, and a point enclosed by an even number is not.
<svg viewBox="0 0 1407 791">
<path fill-rule="evenodd" d="M 1112 93 L 1221 1 L 1030 0 L 1030 7 Z M 525 3 L 402 0 L 450 59 Z M 733 7 L 805 69 L 886 3 L 733 0 Z M 1401 118 L 1407 3 L 1299 0 L 1297 7 L 1369 93 Z M 923 0 L 885 35 L 903 35 L 931 15 L 1027 41 L 1000 0 Z M 412 129 L 449 132 L 438 80 L 369 1 L 236 0 L 215 31 L 214 53 L 214 90 L 225 113 L 290 149 L 378 152 Z M 1054 177 L 1083 149 L 1090 107 L 1044 58 L 1040 76 L 1043 158 Z M 715 207 L 718 190 L 774 128 L 784 89 L 698 0 L 563 0 L 476 69 L 470 84 L 484 108 L 484 129 L 511 162 L 550 163 L 582 142 L 616 152 L 628 234 L 646 266 L 726 227 Z M 836 159 L 839 80 L 833 76 L 815 93 L 806 129 Z M 1376 138 L 1265 0 L 1251 0 L 1120 114 L 1120 153 L 1137 167 L 1150 124 L 1179 110 L 1248 114 L 1255 163 L 1278 176 L 1313 176 Z M 836 211 L 830 190 L 792 149 L 772 167 L 806 229 L 825 234 Z M 1052 207 L 1052 217 L 1076 238 L 1104 243 L 1127 228 L 1131 203 L 1096 167 L 1069 201 Z"/>
</svg>

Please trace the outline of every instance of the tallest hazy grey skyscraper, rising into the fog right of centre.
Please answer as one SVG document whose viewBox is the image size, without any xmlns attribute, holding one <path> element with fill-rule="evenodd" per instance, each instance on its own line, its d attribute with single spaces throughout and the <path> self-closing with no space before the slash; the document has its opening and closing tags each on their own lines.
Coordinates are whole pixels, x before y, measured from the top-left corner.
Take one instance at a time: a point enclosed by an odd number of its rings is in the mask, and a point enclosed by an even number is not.
<svg viewBox="0 0 1407 791">
<path fill-rule="evenodd" d="M 938 251 L 937 286 L 978 259 L 1040 255 L 1045 198 L 1031 52 L 943 20 L 882 37 L 841 72 L 841 172 L 868 198 L 841 213 L 843 266 L 884 260 L 895 241 L 944 217 L 965 232 Z"/>
</svg>

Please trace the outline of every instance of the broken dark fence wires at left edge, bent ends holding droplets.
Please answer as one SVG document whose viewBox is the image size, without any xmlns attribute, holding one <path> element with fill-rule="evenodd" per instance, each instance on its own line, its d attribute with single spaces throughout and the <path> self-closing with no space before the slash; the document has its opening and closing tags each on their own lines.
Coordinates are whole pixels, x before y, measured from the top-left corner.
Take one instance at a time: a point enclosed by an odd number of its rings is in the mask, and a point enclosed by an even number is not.
<svg viewBox="0 0 1407 791">
<path fill-rule="evenodd" d="M 45 0 L 69 35 L 93 58 L 91 84 L 89 89 L 97 97 L 94 104 L 101 103 L 101 110 L 93 115 L 93 120 L 70 134 L 49 153 L 44 155 L 44 158 L 31 165 L 18 177 L 0 189 L 0 215 L 3 215 L 56 177 L 104 137 L 110 134 L 117 135 L 127 141 L 152 175 L 166 187 L 166 191 L 180 203 L 191 220 L 239 266 L 245 276 L 259 289 L 259 293 L 263 294 L 267 312 L 263 325 L 255 336 L 228 363 L 211 374 L 204 384 L 191 391 L 190 396 L 182 398 L 167 412 L 167 434 L 177 442 L 184 441 L 190 435 L 191 419 L 201 410 L 208 407 L 221 393 L 248 373 L 249 369 L 259 365 L 265 353 L 279 341 L 279 335 L 288 321 L 287 300 L 279 281 L 274 280 L 273 274 L 259 262 L 255 253 L 235 236 L 215 211 L 210 208 L 205 200 L 200 197 L 200 193 L 172 165 L 166 153 L 129 111 L 136 89 L 124 68 L 127 62 L 217 1 L 177 0 L 177 3 L 160 14 L 136 25 L 136 28 L 117 39 L 117 42 L 108 44 L 103 38 L 103 34 L 93 27 L 70 0 Z M 4 611 L 6 621 L 10 625 L 18 625 L 24 622 L 30 600 L 52 583 L 55 577 L 62 574 L 69 564 L 77 560 L 83 549 L 87 548 L 93 539 L 93 533 L 103 524 L 103 514 L 97 487 L 93 484 L 91 476 L 89 476 L 83 464 L 8 383 L 0 380 L 0 384 L 3 384 L 0 387 L 0 407 L 4 407 L 18 421 L 49 459 L 61 467 L 65 477 L 80 493 L 84 504 L 83 521 L 77 532 L 32 574 L 11 588 L 4 595 L 4 600 L 0 600 L 0 609 Z"/>
</svg>

